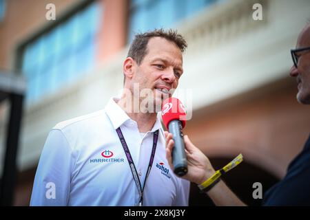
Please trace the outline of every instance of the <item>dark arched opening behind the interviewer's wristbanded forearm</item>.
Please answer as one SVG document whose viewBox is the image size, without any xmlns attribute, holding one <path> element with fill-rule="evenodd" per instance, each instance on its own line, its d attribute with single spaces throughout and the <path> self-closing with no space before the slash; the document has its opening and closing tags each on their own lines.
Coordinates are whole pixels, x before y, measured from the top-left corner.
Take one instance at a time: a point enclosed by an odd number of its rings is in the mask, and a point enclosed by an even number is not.
<svg viewBox="0 0 310 220">
<path fill-rule="evenodd" d="M 214 169 L 218 170 L 228 164 L 233 158 L 214 157 L 209 159 Z M 262 198 L 264 198 L 265 192 L 280 180 L 268 171 L 249 164 L 247 161 L 243 161 L 230 170 L 222 179 L 248 206 L 262 205 L 262 199 L 253 198 L 253 192 L 256 189 L 253 188 L 255 182 L 262 184 Z M 192 183 L 189 194 L 189 206 L 214 206 L 214 203 L 207 195 L 200 192 L 196 184 Z"/>
</svg>

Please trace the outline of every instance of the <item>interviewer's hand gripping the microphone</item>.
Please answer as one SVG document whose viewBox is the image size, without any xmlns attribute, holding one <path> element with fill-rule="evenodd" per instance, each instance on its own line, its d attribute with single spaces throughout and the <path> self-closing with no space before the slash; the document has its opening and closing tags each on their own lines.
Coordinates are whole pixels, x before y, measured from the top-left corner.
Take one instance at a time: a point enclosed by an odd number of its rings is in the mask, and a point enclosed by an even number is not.
<svg viewBox="0 0 310 220">
<path fill-rule="evenodd" d="M 174 170 L 172 164 L 172 150 L 174 148 L 174 140 L 172 133 L 165 131 L 166 137 L 166 157 L 169 166 Z M 192 142 L 187 135 L 184 136 L 185 153 L 187 157 L 187 174 L 183 176 L 184 179 L 192 181 L 196 184 L 202 184 L 206 179 L 215 173 L 209 159 L 201 152 Z"/>
</svg>

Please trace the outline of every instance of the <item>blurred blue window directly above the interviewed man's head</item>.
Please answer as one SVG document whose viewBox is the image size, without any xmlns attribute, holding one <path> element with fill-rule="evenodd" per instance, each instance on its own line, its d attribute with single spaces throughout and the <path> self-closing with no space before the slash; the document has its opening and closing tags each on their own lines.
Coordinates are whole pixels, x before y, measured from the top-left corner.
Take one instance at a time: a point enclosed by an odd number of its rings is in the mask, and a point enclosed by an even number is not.
<svg viewBox="0 0 310 220">
<path fill-rule="evenodd" d="M 216 0 L 132 0 L 130 5 L 130 32 L 134 34 L 154 28 L 174 28 L 174 24 L 185 19 Z"/>
</svg>

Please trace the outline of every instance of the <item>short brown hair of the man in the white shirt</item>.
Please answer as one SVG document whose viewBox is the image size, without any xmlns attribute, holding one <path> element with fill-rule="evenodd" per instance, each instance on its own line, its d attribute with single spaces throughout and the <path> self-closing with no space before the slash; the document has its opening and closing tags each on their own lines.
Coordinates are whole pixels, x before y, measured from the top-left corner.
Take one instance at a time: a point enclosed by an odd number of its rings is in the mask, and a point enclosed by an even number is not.
<svg viewBox="0 0 310 220">
<path fill-rule="evenodd" d="M 134 41 L 132 41 L 132 45 L 130 45 L 130 50 L 128 51 L 127 57 L 133 58 L 134 61 L 140 65 L 143 58 L 147 54 L 147 43 L 149 42 L 149 39 L 156 36 L 175 43 L 181 52 L 184 52 L 187 47 L 185 39 L 182 35 L 178 34 L 176 30 L 169 29 L 165 31 L 161 28 L 155 29 L 152 32 L 136 34 L 136 36 L 134 36 Z"/>
</svg>

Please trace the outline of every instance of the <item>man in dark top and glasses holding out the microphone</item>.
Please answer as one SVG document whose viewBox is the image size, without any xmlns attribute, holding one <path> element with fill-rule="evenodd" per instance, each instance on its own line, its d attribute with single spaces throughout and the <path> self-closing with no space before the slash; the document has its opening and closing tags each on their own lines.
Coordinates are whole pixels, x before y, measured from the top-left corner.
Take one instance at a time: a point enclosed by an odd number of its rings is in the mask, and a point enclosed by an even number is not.
<svg viewBox="0 0 310 220">
<path fill-rule="evenodd" d="M 298 83 L 297 100 L 310 104 L 310 24 L 298 36 L 296 50 L 291 50 L 293 67 L 290 75 Z M 172 134 L 165 131 L 166 153 L 172 167 Z M 214 201 L 216 206 L 245 206 L 223 180 L 214 178 L 216 171 L 209 159 L 189 140 L 184 137 L 187 150 L 188 173 L 183 178 L 198 185 Z M 213 178 L 210 178 L 212 177 Z M 310 137 L 302 152 L 289 164 L 287 175 L 278 184 L 265 193 L 264 206 L 310 206 Z"/>
</svg>

